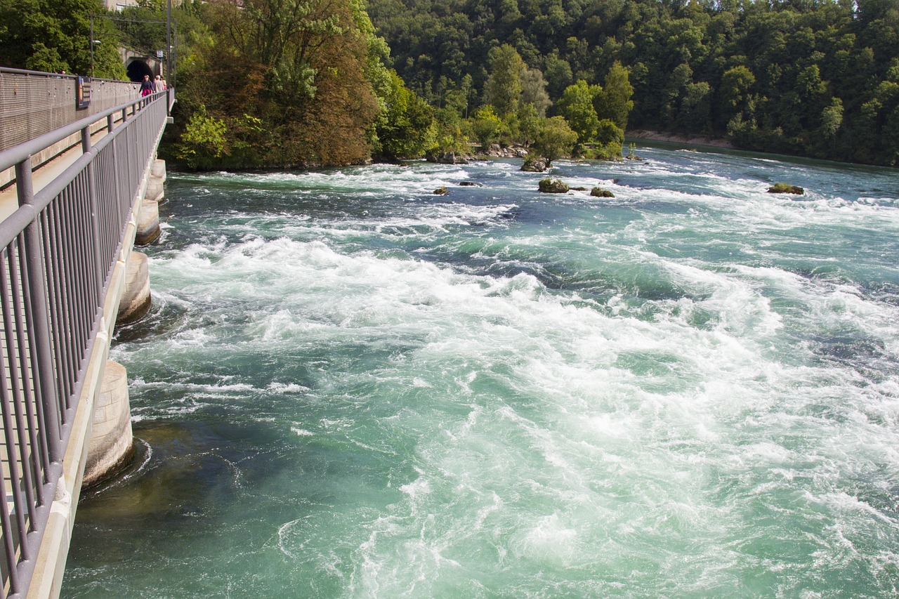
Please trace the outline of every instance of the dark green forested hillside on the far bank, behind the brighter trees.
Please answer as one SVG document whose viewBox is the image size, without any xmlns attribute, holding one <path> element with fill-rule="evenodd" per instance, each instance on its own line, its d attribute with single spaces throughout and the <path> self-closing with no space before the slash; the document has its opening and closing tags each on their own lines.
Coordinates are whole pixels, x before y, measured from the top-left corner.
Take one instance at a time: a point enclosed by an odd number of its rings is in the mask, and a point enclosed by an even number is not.
<svg viewBox="0 0 899 599">
<path fill-rule="evenodd" d="M 485 103 L 491 50 L 507 43 L 545 78 L 549 114 L 619 62 L 630 128 L 899 164 L 897 0 L 369 0 L 369 15 L 434 105 Z"/>
</svg>

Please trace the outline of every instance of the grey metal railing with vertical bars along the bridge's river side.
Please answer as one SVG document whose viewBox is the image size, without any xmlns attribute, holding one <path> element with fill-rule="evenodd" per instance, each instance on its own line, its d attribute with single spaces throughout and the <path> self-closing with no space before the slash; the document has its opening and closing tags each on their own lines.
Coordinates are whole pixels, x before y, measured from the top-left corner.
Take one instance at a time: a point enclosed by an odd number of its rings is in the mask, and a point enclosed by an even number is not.
<svg viewBox="0 0 899 599">
<path fill-rule="evenodd" d="M 0 152 L 0 170 L 15 168 L 19 203 L 0 223 L 6 597 L 25 596 L 31 584 L 103 300 L 172 95 L 122 103 Z M 91 126 L 102 120 L 93 143 Z M 35 192 L 31 155 L 79 131 L 82 155 Z"/>
</svg>

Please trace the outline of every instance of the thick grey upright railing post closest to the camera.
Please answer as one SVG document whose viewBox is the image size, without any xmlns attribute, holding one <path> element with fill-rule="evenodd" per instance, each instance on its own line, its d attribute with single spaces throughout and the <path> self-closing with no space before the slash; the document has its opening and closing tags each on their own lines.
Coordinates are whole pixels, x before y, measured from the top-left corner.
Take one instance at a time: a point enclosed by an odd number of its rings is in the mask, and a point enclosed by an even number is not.
<svg viewBox="0 0 899 599">
<path fill-rule="evenodd" d="M 34 183 L 31 180 L 31 157 L 27 157 L 15 165 L 15 182 L 19 205 L 33 205 Z M 63 459 L 62 424 L 59 420 L 56 378 L 53 374 L 53 352 L 50 348 L 49 308 L 47 306 L 47 286 L 44 281 L 45 263 L 40 244 L 39 222 L 38 215 L 35 215 L 24 231 L 28 261 L 28 285 L 31 289 L 31 311 L 34 314 L 34 339 L 32 341 L 38 355 L 38 376 L 35 378 L 34 384 L 40 385 L 49 459 L 51 462 L 61 462 Z"/>
</svg>

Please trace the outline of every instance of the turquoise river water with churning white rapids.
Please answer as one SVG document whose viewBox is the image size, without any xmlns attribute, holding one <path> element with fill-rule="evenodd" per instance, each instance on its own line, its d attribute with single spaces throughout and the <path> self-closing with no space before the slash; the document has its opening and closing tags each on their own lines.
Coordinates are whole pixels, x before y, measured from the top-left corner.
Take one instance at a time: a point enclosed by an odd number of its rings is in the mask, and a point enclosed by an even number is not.
<svg viewBox="0 0 899 599">
<path fill-rule="evenodd" d="M 63 596 L 899 596 L 899 172 L 637 153 L 170 174 Z"/>
</svg>

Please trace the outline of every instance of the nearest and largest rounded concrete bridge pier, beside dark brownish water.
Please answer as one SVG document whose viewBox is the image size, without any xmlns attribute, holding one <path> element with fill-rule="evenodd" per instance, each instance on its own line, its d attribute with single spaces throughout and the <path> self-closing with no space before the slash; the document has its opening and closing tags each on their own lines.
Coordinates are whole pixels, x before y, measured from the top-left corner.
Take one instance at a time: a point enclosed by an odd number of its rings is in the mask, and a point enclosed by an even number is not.
<svg viewBox="0 0 899 599">
<path fill-rule="evenodd" d="M 82 487 L 110 478 L 134 457 L 128 373 L 118 362 L 107 361 L 93 406 L 93 426 Z"/>
</svg>

